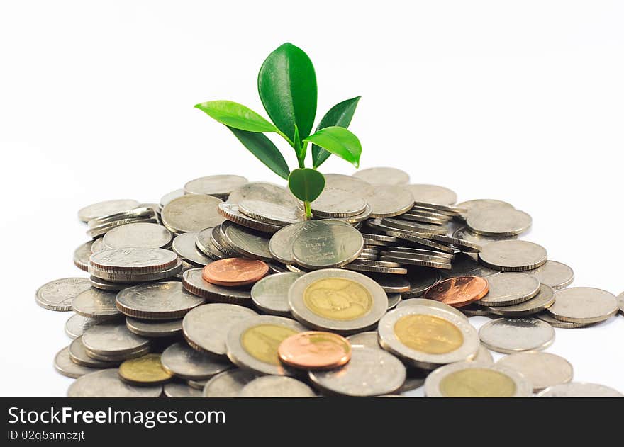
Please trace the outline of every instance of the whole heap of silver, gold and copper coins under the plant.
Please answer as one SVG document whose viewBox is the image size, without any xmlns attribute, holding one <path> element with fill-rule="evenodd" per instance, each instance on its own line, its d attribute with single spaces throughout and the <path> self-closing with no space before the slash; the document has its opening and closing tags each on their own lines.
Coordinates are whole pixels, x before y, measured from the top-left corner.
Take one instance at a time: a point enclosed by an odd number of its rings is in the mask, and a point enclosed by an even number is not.
<svg viewBox="0 0 624 447">
<path fill-rule="evenodd" d="M 36 293 L 74 312 L 54 361 L 77 378 L 67 395 L 621 396 L 542 352 L 624 294 L 567 288 L 572 269 L 518 239 L 530 215 L 399 169 L 325 179 L 312 220 L 286 188 L 231 175 L 79 210 L 90 277 Z"/>
</svg>

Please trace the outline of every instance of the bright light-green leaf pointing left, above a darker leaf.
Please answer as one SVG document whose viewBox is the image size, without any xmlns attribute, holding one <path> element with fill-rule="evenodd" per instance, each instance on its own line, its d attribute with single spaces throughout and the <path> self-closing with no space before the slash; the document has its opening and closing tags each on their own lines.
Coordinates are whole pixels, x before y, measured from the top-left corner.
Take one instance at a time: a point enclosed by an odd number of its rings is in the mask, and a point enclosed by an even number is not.
<svg viewBox="0 0 624 447">
<path fill-rule="evenodd" d="M 276 132 L 277 128 L 250 108 L 234 101 L 208 101 L 195 106 L 228 128 L 249 132 Z"/>
</svg>

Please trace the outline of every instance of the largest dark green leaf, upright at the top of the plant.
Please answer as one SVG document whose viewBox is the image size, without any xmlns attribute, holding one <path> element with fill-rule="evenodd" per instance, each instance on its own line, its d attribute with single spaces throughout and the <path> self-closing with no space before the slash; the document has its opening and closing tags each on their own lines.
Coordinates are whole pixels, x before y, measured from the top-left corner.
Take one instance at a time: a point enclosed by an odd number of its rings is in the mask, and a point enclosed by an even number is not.
<svg viewBox="0 0 624 447">
<path fill-rule="evenodd" d="M 258 94 L 264 110 L 284 135 L 294 142 L 310 135 L 316 115 L 316 74 L 301 48 L 284 43 L 272 52 L 258 73 Z"/>
</svg>

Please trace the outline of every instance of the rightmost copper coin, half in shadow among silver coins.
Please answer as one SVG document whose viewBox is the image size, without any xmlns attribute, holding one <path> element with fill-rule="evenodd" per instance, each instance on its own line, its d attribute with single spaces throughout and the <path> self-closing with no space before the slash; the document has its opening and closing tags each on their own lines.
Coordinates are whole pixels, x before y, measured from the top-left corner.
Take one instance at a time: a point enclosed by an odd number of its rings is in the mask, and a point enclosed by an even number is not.
<svg viewBox="0 0 624 447">
<path fill-rule="evenodd" d="M 463 307 L 483 298 L 489 285 L 479 276 L 457 276 L 434 285 L 425 292 L 425 298 L 443 302 L 452 307 Z"/>
</svg>

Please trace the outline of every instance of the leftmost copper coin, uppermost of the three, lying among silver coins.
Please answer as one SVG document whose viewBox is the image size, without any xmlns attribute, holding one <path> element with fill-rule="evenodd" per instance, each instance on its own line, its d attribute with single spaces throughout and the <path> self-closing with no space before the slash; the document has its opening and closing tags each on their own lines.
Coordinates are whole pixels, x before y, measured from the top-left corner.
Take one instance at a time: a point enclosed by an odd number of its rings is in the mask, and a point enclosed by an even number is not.
<svg viewBox="0 0 624 447">
<path fill-rule="evenodd" d="M 263 261 L 247 258 L 228 258 L 214 261 L 204 267 L 201 277 L 216 285 L 253 284 L 269 272 L 269 266 Z"/>
</svg>

